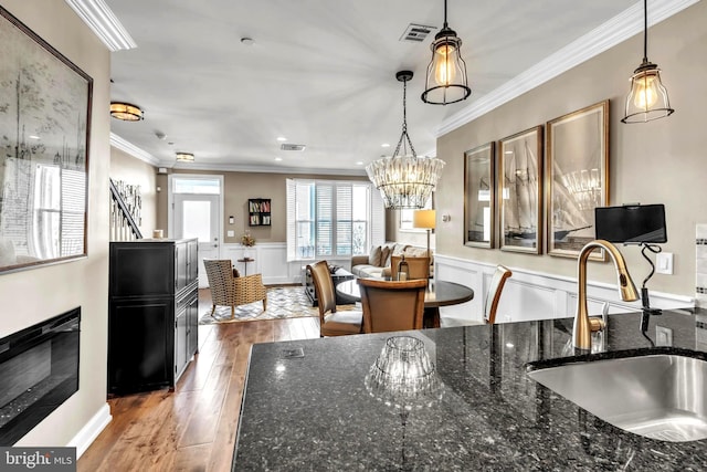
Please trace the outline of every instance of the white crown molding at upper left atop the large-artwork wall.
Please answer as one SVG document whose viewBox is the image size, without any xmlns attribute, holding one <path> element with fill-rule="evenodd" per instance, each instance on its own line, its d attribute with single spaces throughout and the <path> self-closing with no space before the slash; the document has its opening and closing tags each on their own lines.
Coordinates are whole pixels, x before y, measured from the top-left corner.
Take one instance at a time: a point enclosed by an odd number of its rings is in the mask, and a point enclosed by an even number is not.
<svg viewBox="0 0 707 472">
<path fill-rule="evenodd" d="M 104 0 L 64 0 L 112 52 L 137 48 Z"/>
</svg>

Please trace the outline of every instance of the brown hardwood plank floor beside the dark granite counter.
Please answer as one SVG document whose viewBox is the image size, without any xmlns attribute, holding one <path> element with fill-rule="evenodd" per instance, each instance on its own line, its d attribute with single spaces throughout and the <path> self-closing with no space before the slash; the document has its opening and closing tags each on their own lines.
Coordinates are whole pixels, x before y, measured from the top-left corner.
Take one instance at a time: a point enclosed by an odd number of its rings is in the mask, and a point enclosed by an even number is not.
<svg viewBox="0 0 707 472">
<path fill-rule="evenodd" d="M 211 300 L 199 292 L 202 314 Z M 113 421 L 77 470 L 230 471 L 251 345 L 316 337 L 316 317 L 199 326 L 199 354 L 175 391 L 109 399 Z"/>
</svg>

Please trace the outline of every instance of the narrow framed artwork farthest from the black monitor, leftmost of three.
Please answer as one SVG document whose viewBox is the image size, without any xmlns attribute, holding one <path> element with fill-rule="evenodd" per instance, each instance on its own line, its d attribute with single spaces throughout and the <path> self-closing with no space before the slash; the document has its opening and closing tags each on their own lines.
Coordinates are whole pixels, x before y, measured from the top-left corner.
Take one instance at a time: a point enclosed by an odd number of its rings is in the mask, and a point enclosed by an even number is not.
<svg viewBox="0 0 707 472">
<path fill-rule="evenodd" d="M 496 190 L 494 143 L 464 153 L 464 244 L 494 247 Z"/>
</svg>

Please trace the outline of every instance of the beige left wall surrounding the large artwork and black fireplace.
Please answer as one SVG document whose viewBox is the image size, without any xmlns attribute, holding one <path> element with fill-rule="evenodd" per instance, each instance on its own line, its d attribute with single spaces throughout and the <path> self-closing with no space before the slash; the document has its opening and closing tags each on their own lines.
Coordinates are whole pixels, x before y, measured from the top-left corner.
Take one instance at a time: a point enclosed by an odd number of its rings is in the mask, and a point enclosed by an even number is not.
<svg viewBox="0 0 707 472">
<path fill-rule="evenodd" d="M 81 306 L 80 389 L 18 445 L 78 445 L 109 420 L 106 406 L 108 312 L 108 50 L 63 0 L 3 0 L 2 7 L 93 77 L 88 156 L 88 256 L 0 274 L 0 337 Z"/>
</svg>

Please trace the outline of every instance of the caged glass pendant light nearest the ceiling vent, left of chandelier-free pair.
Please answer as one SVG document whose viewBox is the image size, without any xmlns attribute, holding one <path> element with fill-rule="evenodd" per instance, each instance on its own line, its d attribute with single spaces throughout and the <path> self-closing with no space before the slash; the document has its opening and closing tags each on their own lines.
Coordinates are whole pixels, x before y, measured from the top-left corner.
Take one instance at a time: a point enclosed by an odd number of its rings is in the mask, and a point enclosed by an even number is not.
<svg viewBox="0 0 707 472">
<path fill-rule="evenodd" d="M 466 63 L 462 59 L 462 40 L 446 23 L 446 0 L 444 27 L 435 34 L 431 49 L 432 61 L 428 65 L 422 101 L 433 105 L 447 105 L 466 99 L 472 90 L 466 78 Z"/>
</svg>

